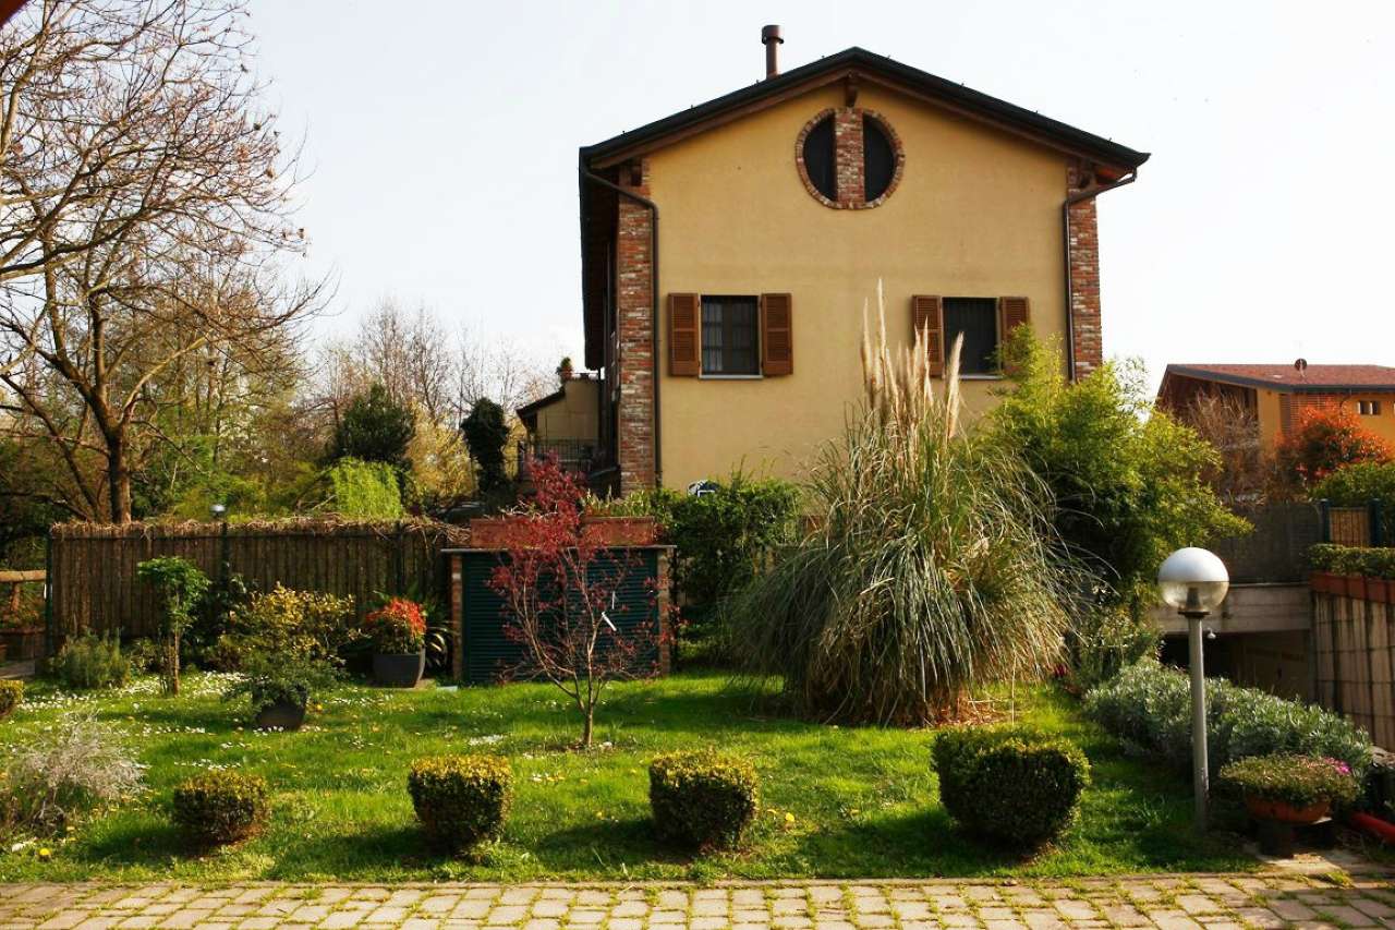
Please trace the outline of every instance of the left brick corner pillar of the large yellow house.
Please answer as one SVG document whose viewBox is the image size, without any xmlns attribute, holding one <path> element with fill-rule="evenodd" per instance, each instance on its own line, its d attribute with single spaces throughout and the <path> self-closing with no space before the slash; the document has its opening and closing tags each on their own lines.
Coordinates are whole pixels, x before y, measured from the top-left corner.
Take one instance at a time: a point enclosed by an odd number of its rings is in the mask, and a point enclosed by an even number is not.
<svg viewBox="0 0 1395 930">
<path fill-rule="evenodd" d="M 649 197 L 649 161 L 639 166 L 640 183 L 621 170 L 621 184 Z M 617 225 L 615 316 L 619 335 L 619 490 L 654 486 L 654 334 L 653 215 L 628 197 L 619 198 Z"/>
</svg>

